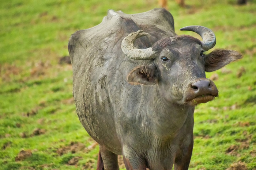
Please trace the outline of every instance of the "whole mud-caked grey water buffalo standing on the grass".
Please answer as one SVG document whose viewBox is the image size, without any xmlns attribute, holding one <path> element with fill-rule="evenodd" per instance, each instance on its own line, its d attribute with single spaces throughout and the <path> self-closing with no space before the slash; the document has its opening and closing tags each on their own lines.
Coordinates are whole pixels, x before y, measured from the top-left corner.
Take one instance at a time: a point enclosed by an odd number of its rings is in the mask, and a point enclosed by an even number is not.
<svg viewBox="0 0 256 170">
<path fill-rule="evenodd" d="M 129 170 L 188 169 L 195 106 L 218 96 L 205 71 L 241 54 L 205 54 L 215 46 L 214 33 L 202 26 L 181 30 L 202 40 L 177 35 L 165 9 L 132 15 L 109 10 L 100 24 L 71 36 L 76 111 L 99 143 L 97 169 L 119 169 L 117 155 Z"/>
</svg>

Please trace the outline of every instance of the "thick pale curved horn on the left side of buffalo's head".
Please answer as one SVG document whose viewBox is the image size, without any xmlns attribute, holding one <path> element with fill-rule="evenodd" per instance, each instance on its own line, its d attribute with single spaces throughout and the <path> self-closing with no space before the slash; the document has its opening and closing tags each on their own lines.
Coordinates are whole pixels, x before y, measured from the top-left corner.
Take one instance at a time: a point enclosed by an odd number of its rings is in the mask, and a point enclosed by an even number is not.
<svg viewBox="0 0 256 170">
<path fill-rule="evenodd" d="M 124 54 L 131 58 L 131 59 L 141 59 L 141 60 L 147 60 L 154 58 L 155 52 L 152 50 L 152 47 L 147 49 L 136 49 L 133 45 L 133 42 L 135 39 L 149 35 L 146 32 L 143 32 L 142 30 L 139 30 L 137 32 L 132 32 L 129 35 L 127 35 L 121 44 L 121 48 L 124 52 Z"/>
</svg>

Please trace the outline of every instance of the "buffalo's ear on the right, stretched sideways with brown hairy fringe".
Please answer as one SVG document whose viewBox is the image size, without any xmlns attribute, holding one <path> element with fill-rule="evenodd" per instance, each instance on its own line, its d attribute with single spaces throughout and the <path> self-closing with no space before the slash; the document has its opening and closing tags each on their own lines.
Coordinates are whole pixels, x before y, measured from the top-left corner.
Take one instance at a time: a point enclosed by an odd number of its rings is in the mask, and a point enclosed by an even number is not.
<svg viewBox="0 0 256 170">
<path fill-rule="evenodd" d="M 206 72 L 213 72 L 224 67 L 232 61 L 241 59 L 242 55 L 237 51 L 217 49 L 207 54 L 204 59 L 204 67 Z"/>
</svg>

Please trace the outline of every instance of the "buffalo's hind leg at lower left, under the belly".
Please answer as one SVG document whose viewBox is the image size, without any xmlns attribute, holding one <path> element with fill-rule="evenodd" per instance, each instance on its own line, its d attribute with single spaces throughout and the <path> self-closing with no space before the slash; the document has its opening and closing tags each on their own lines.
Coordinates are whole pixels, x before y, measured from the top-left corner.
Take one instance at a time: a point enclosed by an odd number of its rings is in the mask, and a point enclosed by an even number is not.
<svg viewBox="0 0 256 170">
<path fill-rule="evenodd" d="M 99 145 L 97 170 L 119 170 L 117 155 Z"/>
</svg>

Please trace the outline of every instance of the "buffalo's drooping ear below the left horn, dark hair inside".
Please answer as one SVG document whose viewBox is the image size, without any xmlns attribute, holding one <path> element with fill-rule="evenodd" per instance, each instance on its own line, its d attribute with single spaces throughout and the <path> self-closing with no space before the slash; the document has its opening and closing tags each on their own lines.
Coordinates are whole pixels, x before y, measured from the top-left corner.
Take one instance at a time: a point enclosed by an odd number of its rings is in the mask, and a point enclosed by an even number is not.
<svg viewBox="0 0 256 170">
<path fill-rule="evenodd" d="M 154 85 L 158 82 L 158 75 L 154 66 L 138 66 L 129 73 L 127 80 L 133 85 Z"/>
</svg>

